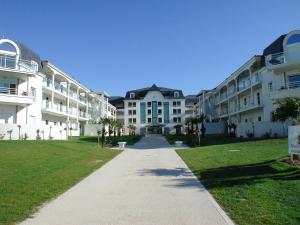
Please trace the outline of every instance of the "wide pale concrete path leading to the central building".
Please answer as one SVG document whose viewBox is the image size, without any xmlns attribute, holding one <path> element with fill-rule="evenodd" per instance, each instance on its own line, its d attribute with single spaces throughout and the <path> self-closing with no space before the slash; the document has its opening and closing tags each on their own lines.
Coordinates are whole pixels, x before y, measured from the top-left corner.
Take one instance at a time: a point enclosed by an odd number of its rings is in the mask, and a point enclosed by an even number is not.
<svg viewBox="0 0 300 225">
<path fill-rule="evenodd" d="M 233 223 L 164 138 L 151 136 L 126 149 L 21 224 Z"/>
</svg>

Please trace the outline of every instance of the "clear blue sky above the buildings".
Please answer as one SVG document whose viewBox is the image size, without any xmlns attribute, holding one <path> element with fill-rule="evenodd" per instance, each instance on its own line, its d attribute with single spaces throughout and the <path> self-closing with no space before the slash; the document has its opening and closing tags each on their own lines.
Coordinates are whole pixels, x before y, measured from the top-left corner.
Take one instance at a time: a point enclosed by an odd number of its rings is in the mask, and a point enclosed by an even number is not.
<svg viewBox="0 0 300 225">
<path fill-rule="evenodd" d="M 215 87 L 281 34 L 299 0 L 1 0 L 0 36 L 92 90 Z"/>
</svg>

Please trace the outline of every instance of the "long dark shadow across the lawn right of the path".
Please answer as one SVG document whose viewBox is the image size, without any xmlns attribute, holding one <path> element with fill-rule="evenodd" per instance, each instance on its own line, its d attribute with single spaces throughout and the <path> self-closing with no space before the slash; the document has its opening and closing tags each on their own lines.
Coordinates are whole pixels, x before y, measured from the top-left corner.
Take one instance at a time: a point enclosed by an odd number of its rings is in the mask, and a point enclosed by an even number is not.
<svg viewBox="0 0 300 225">
<path fill-rule="evenodd" d="M 194 171 L 208 189 L 253 184 L 265 179 L 299 180 L 300 169 L 289 167 L 276 160 L 256 164 L 227 166 L 205 171 Z"/>
</svg>

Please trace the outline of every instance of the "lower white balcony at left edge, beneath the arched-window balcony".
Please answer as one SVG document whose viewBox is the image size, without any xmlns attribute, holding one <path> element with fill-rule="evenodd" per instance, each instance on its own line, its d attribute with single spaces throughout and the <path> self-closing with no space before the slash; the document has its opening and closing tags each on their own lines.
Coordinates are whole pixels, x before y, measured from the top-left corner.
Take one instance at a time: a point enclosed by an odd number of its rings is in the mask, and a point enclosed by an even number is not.
<svg viewBox="0 0 300 225">
<path fill-rule="evenodd" d="M 30 105 L 34 102 L 35 94 L 28 90 L 0 87 L 0 103 L 13 105 Z"/>
</svg>

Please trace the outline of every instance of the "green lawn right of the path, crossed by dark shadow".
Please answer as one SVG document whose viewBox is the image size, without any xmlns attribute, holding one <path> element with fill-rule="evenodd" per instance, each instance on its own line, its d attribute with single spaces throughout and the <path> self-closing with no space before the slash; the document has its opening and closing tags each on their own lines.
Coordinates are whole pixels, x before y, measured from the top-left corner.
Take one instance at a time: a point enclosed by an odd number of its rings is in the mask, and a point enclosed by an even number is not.
<svg viewBox="0 0 300 225">
<path fill-rule="evenodd" d="M 300 169 L 280 160 L 286 139 L 216 143 L 177 153 L 237 224 L 300 224 Z"/>
</svg>

